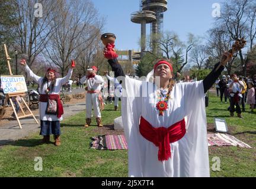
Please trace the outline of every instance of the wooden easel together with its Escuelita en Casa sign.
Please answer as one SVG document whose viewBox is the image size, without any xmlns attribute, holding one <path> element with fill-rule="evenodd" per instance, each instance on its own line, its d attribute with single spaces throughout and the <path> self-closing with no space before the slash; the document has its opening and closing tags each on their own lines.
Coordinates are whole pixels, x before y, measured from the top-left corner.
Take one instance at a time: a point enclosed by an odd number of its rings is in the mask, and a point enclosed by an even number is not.
<svg viewBox="0 0 256 189">
<path fill-rule="evenodd" d="M 11 103 L 12 109 L 14 110 L 14 115 L 18 121 L 18 125 L 20 126 L 20 129 L 22 129 L 21 123 L 20 123 L 20 118 L 27 118 L 27 117 L 33 116 L 36 123 L 39 124 L 39 122 L 37 122 L 36 117 L 33 115 L 33 112 L 31 112 L 27 103 L 23 99 L 25 92 L 27 92 L 27 85 L 25 83 L 25 78 L 24 78 L 24 76 L 13 76 L 12 75 L 11 64 L 9 63 L 9 60 L 11 60 L 11 58 L 8 55 L 7 46 L 5 44 L 4 44 L 4 49 L 5 49 L 5 56 L 7 58 L 7 64 L 8 64 L 10 76 L 1 76 L 1 78 L 0 78 L 2 89 L 4 90 L 4 93 L 7 96 L 3 107 L 5 107 L 5 105 L 7 104 L 7 100 L 9 100 L 9 102 Z M 27 110 L 28 110 L 28 112 L 30 112 L 30 114 L 25 114 L 23 107 L 21 106 L 21 103 L 18 100 L 19 96 L 21 97 L 22 102 L 24 103 L 25 107 L 27 107 Z M 12 98 L 14 98 L 15 101 L 18 103 L 18 106 L 20 106 L 20 110 L 23 113 L 23 116 L 18 116 L 15 106 L 14 106 L 14 102 L 12 102 Z M 4 112 L 4 111 L 2 111 L 2 112 Z"/>
</svg>

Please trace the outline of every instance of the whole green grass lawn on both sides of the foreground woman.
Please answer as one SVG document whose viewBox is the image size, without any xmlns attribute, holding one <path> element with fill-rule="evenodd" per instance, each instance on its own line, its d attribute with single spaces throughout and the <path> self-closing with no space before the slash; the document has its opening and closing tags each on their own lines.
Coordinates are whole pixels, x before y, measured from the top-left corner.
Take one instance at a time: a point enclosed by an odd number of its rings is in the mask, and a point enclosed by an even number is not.
<svg viewBox="0 0 256 189">
<path fill-rule="evenodd" d="M 113 111 L 114 105 L 106 105 L 102 112 L 103 124 L 113 124 L 121 115 Z M 255 177 L 256 176 L 256 119 L 255 114 L 242 113 L 245 119 L 229 118 L 228 104 L 210 95 L 207 107 L 207 122 L 222 117 L 228 123 L 229 132 L 251 149 L 239 147 L 209 147 L 212 177 Z M 248 107 L 247 107 L 248 109 Z M 0 177 L 127 177 L 127 151 L 102 151 L 89 149 L 92 136 L 107 130 L 92 126 L 84 128 L 85 112 L 80 112 L 62 122 L 62 145 L 40 144 L 41 136 L 34 133 L 27 138 L 0 148 Z M 106 127 L 107 128 L 107 127 Z M 51 138 L 51 141 L 53 139 Z M 35 171 L 35 157 L 43 159 L 43 171 Z M 220 171 L 212 171 L 213 157 L 220 158 Z"/>
</svg>

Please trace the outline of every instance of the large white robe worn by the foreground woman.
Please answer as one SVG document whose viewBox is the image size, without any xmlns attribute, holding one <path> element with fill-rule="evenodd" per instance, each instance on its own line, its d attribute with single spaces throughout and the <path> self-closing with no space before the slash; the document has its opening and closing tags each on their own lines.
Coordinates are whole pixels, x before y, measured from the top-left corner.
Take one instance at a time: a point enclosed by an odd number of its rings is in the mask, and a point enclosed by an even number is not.
<svg viewBox="0 0 256 189">
<path fill-rule="evenodd" d="M 121 113 L 128 143 L 129 177 L 209 177 L 203 82 L 175 84 L 164 116 L 159 116 L 156 109 L 157 88 L 153 83 L 126 76 L 124 85 Z M 155 128 L 168 128 L 186 116 L 187 132 L 180 141 L 170 144 L 171 158 L 167 161 L 158 161 L 158 147 L 140 134 L 140 116 Z"/>
</svg>

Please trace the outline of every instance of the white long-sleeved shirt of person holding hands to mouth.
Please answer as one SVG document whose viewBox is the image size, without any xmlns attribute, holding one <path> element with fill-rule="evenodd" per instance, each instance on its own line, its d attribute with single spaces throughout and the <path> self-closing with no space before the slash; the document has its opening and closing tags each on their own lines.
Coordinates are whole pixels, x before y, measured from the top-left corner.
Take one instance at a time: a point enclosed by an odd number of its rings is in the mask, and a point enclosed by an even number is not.
<svg viewBox="0 0 256 189">
<path fill-rule="evenodd" d="M 81 83 L 87 83 L 88 90 L 101 90 L 101 83 L 104 82 L 103 78 L 99 75 L 95 75 L 92 78 L 87 79 L 87 76 L 84 76 L 80 80 Z"/>
</svg>

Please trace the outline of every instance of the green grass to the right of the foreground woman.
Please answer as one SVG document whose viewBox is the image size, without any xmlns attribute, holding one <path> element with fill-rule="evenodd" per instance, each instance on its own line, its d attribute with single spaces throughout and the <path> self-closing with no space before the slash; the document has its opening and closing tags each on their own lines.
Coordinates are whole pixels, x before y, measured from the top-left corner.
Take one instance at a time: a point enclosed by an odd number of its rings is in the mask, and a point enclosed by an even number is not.
<svg viewBox="0 0 256 189">
<path fill-rule="evenodd" d="M 213 123 L 214 118 L 222 118 L 228 124 L 231 135 L 249 144 L 252 148 L 236 146 L 210 146 L 210 174 L 212 177 L 255 177 L 256 176 L 256 114 L 242 112 L 244 119 L 229 116 L 229 104 L 220 103 L 219 97 L 211 94 L 209 107 L 206 109 L 207 123 Z M 213 157 L 220 158 L 220 171 L 212 171 Z"/>
</svg>

